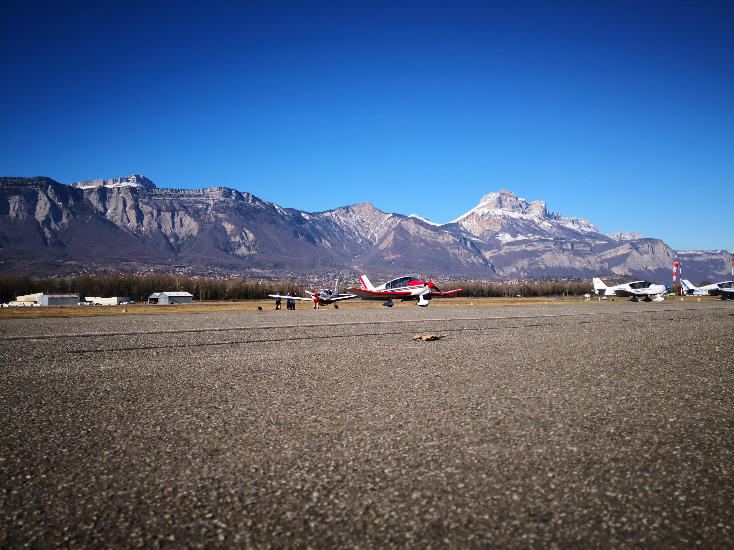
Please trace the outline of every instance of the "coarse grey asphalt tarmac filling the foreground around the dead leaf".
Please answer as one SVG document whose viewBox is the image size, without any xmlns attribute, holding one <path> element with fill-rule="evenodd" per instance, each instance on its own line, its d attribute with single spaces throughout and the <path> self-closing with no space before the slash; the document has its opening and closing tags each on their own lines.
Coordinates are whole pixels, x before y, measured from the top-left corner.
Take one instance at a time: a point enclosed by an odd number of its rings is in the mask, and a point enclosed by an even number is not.
<svg viewBox="0 0 734 550">
<path fill-rule="evenodd" d="M 0 547 L 731 548 L 733 329 L 731 301 L 2 320 Z"/>
</svg>

